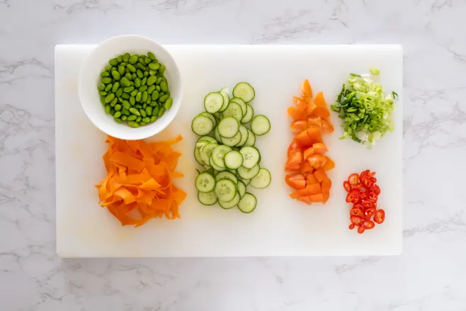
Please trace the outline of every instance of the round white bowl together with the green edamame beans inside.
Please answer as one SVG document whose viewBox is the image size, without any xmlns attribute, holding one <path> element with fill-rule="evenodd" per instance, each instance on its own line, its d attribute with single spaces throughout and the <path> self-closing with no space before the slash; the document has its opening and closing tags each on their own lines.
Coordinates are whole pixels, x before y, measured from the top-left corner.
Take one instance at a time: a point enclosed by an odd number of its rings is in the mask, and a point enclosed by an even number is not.
<svg viewBox="0 0 466 311">
<path fill-rule="evenodd" d="M 79 72 L 84 112 L 97 128 L 123 140 L 141 140 L 164 130 L 179 111 L 182 90 L 170 53 L 139 35 L 101 43 Z"/>
</svg>

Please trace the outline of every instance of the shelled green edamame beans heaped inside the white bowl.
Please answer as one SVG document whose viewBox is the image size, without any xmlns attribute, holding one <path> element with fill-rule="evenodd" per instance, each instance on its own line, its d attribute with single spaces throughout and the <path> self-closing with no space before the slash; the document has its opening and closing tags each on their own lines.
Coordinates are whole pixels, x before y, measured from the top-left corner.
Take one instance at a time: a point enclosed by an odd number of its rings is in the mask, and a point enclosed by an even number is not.
<svg viewBox="0 0 466 311">
<path fill-rule="evenodd" d="M 132 128 L 155 122 L 173 104 L 164 72 L 165 65 L 152 52 L 108 61 L 97 86 L 106 113 Z"/>
</svg>

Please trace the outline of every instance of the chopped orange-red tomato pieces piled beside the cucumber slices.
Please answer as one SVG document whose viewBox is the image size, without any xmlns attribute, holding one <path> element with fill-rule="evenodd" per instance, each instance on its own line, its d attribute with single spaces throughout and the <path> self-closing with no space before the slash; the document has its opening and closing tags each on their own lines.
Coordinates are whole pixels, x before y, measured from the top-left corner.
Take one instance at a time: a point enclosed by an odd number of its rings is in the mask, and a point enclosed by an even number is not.
<svg viewBox="0 0 466 311">
<path fill-rule="evenodd" d="M 324 94 L 321 92 L 312 99 L 311 85 L 307 80 L 302 83 L 301 91 L 301 97 L 294 97 L 296 106 L 288 108 L 288 115 L 293 118 L 290 128 L 295 137 L 288 147 L 285 165 L 285 171 L 292 174 L 285 176 L 285 181 L 295 189 L 290 198 L 307 204 L 326 203 L 331 188 L 326 171 L 333 169 L 335 164 L 324 155 L 328 149 L 322 134 L 333 132 L 334 127 L 330 123 Z"/>
</svg>

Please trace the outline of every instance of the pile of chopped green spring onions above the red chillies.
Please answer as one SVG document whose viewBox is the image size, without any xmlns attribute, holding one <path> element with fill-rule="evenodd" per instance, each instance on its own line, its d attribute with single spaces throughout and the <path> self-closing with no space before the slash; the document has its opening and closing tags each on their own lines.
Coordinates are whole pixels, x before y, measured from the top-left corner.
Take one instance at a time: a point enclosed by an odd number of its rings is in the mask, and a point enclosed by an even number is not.
<svg viewBox="0 0 466 311">
<path fill-rule="evenodd" d="M 394 101 L 398 100 L 395 92 L 385 96 L 382 86 L 371 79 L 371 76 L 380 74 L 377 68 L 370 68 L 370 73 L 363 76 L 350 74 L 336 104 L 331 105 L 331 110 L 339 113 L 339 118 L 344 121 L 341 127 L 345 134 L 341 139 L 351 137 L 368 149 L 387 131 L 394 129 L 392 111 Z"/>
</svg>

